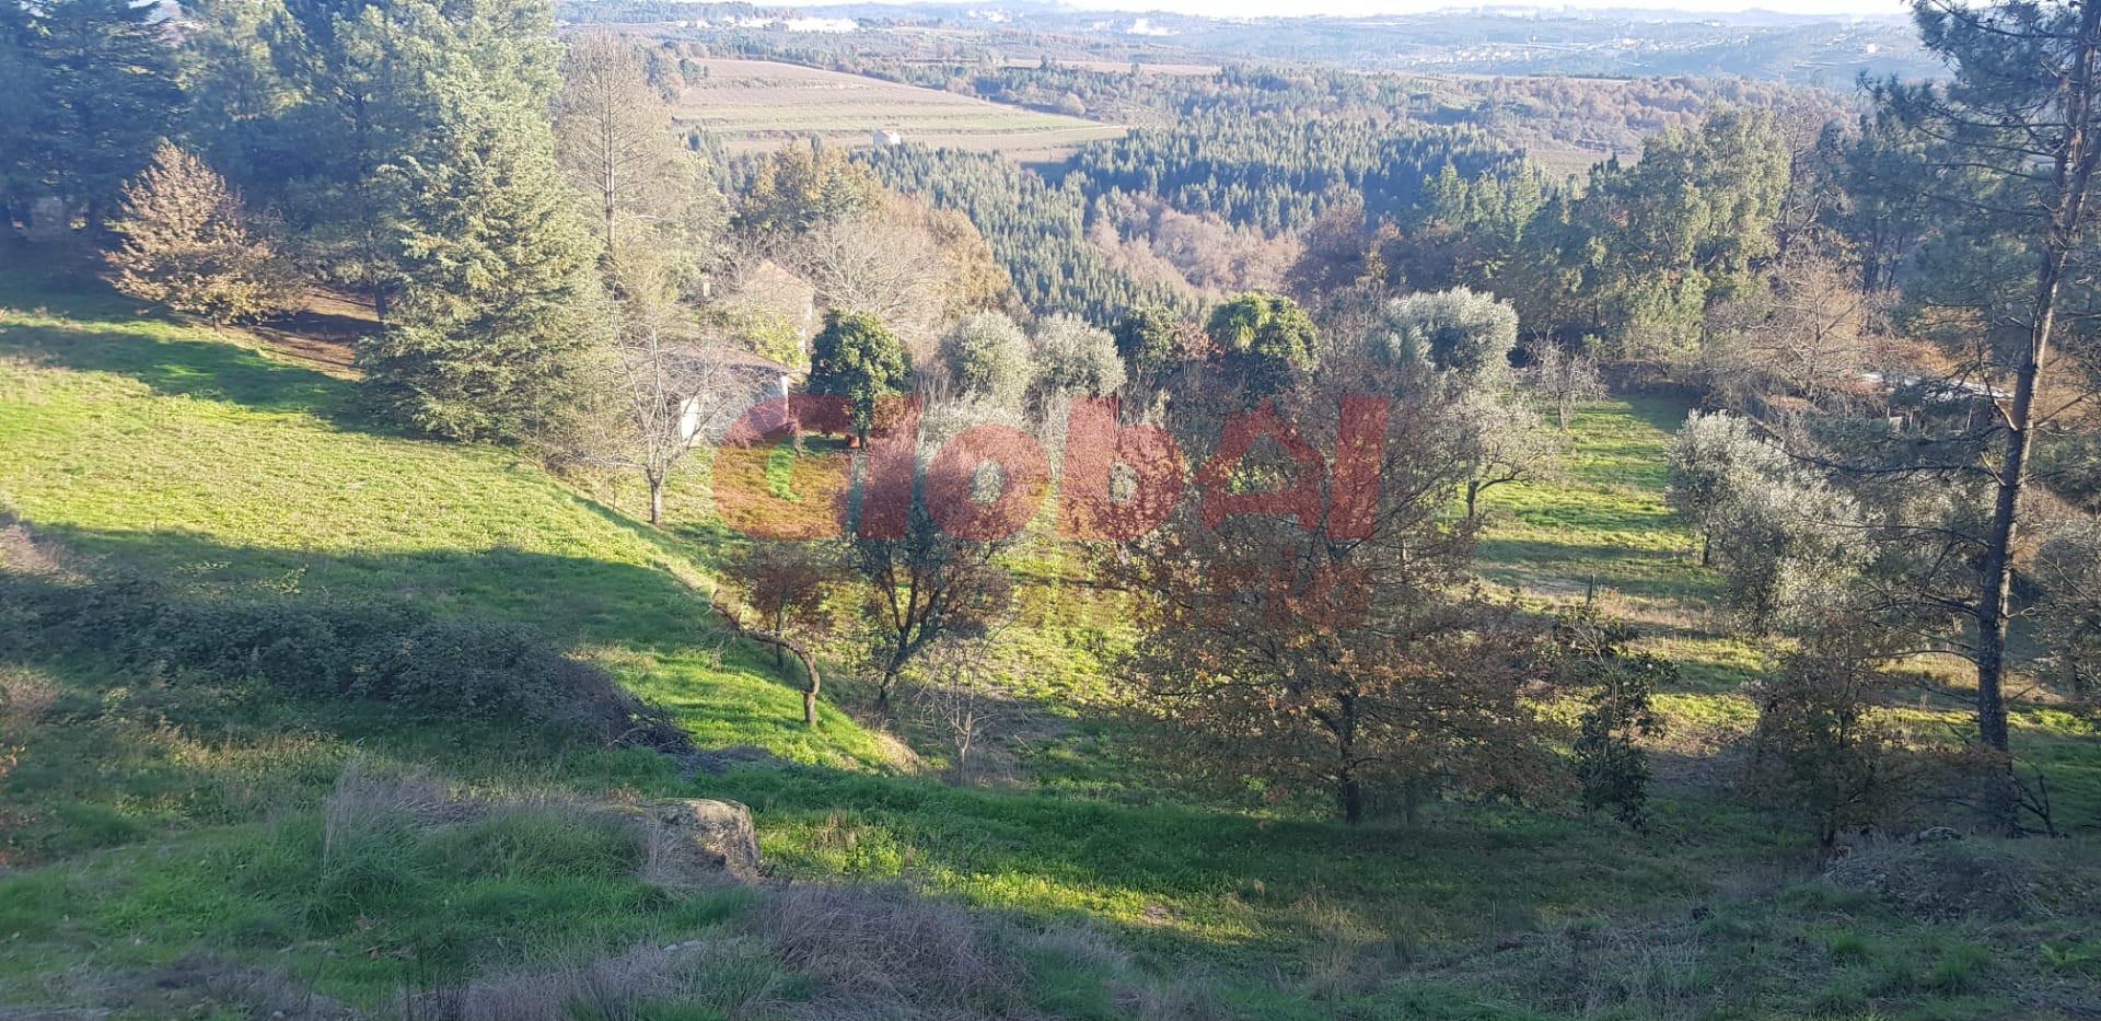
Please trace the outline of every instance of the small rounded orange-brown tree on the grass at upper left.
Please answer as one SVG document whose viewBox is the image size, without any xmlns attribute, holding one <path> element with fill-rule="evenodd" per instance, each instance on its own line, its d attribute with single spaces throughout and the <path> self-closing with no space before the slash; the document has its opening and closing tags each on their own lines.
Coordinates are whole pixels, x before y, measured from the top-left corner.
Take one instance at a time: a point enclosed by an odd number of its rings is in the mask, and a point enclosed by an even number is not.
<svg viewBox="0 0 2101 1021">
<path fill-rule="evenodd" d="M 122 214 L 109 229 L 122 239 L 105 256 L 111 284 L 134 298 L 214 324 L 277 311 L 292 298 L 284 258 L 250 225 L 240 195 L 170 143 L 124 187 Z"/>
</svg>

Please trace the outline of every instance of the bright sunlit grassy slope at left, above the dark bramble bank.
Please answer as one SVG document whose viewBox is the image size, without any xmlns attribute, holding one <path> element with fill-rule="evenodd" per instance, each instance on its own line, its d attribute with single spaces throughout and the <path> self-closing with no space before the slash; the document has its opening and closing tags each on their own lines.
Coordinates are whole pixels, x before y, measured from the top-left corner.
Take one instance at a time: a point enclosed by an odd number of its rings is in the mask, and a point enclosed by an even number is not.
<svg viewBox="0 0 2101 1021">
<path fill-rule="evenodd" d="M 714 664 L 698 546 L 487 447 L 372 429 L 353 387 L 118 298 L 0 282 L 0 508 L 74 555 L 212 592 L 395 599 L 529 622 L 601 653 L 702 737 L 878 769 L 889 756 L 756 658 Z"/>
</svg>

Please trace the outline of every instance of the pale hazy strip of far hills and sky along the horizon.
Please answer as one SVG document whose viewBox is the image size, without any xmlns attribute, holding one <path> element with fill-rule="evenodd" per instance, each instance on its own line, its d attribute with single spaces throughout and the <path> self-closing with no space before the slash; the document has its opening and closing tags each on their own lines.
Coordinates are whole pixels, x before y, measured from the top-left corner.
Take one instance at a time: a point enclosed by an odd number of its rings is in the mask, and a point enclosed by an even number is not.
<svg viewBox="0 0 2101 1021">
<path fill-rule="evenodd" d="M 1132 4 L 1143 6 L 1143 4 Z M 674 21 L 693 38 L 796 59 L 914 55 L 1126 63 L 1284 61 L 1452 74 L 1740 76 L 1845 88 L 1859 76 L 1939 74 L 1906 17 L 1710 15 L 1653 8 L 1485 6 L 1372 17 L 1204 17 L 1011 4 L 565 2 L 571 21 Z"/>
</svg>

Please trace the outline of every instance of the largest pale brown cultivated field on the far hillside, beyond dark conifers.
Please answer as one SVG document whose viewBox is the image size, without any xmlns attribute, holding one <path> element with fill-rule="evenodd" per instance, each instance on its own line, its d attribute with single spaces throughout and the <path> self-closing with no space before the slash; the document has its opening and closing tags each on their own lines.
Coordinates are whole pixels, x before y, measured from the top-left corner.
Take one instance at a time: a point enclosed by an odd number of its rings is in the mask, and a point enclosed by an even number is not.
<svg viewBox="0 0 2101 1021">
<path fill-rule="evenodd" d="M 878 128 L 910 143 L 1032 158 L 1124 128 L 1084 118 L 987 103 L 933 88 L 882 82 L 773 61 L 700 61 L 708 78 L 687 88 L 677 116 L 702 124 L 733 153 L 777 149 L 788 139 L 824 137 L 868 145 Z"/>
</svg>

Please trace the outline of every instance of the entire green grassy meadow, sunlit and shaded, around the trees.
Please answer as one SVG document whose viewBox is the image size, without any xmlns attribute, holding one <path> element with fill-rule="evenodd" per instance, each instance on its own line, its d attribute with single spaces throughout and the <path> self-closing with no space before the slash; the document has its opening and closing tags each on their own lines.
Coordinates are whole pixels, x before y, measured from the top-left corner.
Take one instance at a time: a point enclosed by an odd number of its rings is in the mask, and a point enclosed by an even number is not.
<svg viewBox="0 0 2101 1021">
<path fill-rule="evenodd" d="M 0 273 L 0 569 L 521 622 L 735 750 L 681 775 L 32 645 L 0 662 L 0 1017 L 437 1017 L 437 989 L 595 989 L 550 975 L 607 962 L 662 981 L 559 1017 L 2097 1017 L 2088 840 L 1870 847 L 1824 876 L 1798 828 L 1733 794 L 1767 649 L 1725 634 L 1664 506 L 1683 414 L 1582 410 L 1563 477 L 1492 489 L 1481 546 L 1492 584 L 1595 592 L 1683 666 L 1649 830 L 1559 790 L 1345 828 L 1151 760 L 1116 700 L 1135 637 L 1067 550 L 1017 557 L 1002 733 L 954 784 L 937 742 L 861 708 L 855 664 L 805 729 L 794 676 L 710 626 L 704 464 L 653 529 L 632 485 L 395 435 L 340 372 Z M 2088 725 L 2021 706 L 2017 742 L 2065 819 L 2101 817 Z M 750 805 L 773 880 L 664 882 L 578 809 L 656 796 Z M 849 939 L 868 918 L 914 939 Z"/>
</svg>

